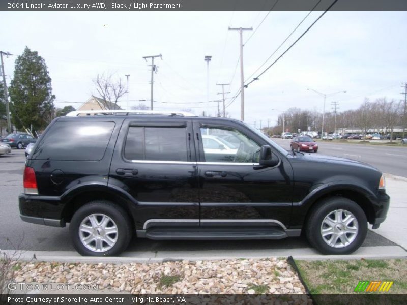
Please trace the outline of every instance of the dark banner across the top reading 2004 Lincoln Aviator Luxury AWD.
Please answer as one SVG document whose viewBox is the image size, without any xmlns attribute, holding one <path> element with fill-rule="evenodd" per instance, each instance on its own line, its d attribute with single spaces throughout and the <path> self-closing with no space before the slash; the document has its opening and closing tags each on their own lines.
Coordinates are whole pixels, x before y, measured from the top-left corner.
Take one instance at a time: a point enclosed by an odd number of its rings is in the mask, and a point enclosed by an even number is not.
<svg viewBox="0 0 407 305">
<path fill-rule="evenodd" d="M 2 0 L 0 11 L 325 11 L 335 0 Z M 337 0 L 331 11 L 407 11 L 406 0 Z"/>
</svg>

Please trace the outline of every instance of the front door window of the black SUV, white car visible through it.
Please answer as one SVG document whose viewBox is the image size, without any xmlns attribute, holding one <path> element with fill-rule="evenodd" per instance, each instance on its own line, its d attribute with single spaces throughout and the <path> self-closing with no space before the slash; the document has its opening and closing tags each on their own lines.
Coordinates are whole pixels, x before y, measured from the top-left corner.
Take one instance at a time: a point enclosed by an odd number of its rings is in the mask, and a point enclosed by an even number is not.
<svg viewBox="0 0 407 305">
<path fill-rule="evenodd" d="M 201 128 L 206 162 L 258 163 L 260 145 L 236 129 Z"/>
</svg>

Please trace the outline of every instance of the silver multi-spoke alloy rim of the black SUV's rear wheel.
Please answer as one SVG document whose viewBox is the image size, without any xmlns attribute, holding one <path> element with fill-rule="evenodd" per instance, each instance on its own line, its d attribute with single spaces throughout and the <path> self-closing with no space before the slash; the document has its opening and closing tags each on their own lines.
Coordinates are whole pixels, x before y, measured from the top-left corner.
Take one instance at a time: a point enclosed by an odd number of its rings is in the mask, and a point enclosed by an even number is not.
<svg viewBox="0 0 407 305">
<path fill-rule="evenodd" d="M 79 239 L 93 252 L 106 252 L 118 240 L 118 227 L 104 214 L 91 214 L 80 223 Z"/>
</svg>

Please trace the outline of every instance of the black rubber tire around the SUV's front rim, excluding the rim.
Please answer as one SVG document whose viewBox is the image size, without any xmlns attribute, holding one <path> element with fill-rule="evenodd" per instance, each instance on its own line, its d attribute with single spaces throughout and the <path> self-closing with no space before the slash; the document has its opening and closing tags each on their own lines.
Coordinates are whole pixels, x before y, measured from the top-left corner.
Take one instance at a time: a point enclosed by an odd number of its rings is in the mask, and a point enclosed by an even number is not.
<svg viewBox="0 0 407 305">
<path fill-rule="evenodd" d="M 343 248 L 329 246 L 321 236 L 321 225 L 324 218 L 332 211 L 343 209 L 350 211 L 358 221 L 359 231 L 355 240 Z M 356 251 L 363 243 L 367 234 L 367 219 L 362 208 L 354 201 L 334 197 L 320 202 L 312 211 L 306 228 L 306 235 L 311 245 L 323 254 L 349 254 Z"/>
</svg>

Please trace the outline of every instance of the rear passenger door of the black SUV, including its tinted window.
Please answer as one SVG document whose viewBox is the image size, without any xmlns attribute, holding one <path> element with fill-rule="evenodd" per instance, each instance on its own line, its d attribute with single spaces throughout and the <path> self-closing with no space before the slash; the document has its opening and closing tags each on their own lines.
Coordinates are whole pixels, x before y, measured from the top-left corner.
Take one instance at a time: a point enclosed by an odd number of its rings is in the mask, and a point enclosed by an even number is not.
<svg viewBox="0 0 407 305">
<path fill-rule="evenodd" d="M 108 185 L 134 204 L 136 226 L 199 226 L 198 177 L 191 119 L 124 120 Z"/>
</svg>

